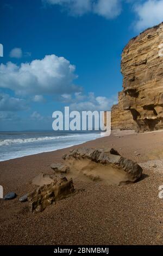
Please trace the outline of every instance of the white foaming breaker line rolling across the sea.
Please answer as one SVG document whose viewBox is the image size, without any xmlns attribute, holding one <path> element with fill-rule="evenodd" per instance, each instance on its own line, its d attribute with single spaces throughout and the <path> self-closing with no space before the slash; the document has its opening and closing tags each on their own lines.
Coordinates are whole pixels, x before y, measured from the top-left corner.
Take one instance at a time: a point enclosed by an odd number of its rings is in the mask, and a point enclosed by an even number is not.
<svg viewBox="0 0 163 256">
<path fill-rule="evenodd" d="M 39 137 L 39 138 L 22 138 L 22 139 L 0 139 L 0 147 L 12 144 L 21 144 L 21 143 L 32 143 L 32 142 L 39 142 L 39 141 L 51 141 L 54 139 L 61 139 L 61 138 L 69 138 L 69 137 L 76 137 L 79 135 L 67 135 L 67 136 L 53 136 L 53 137 Z"/>
</svg>

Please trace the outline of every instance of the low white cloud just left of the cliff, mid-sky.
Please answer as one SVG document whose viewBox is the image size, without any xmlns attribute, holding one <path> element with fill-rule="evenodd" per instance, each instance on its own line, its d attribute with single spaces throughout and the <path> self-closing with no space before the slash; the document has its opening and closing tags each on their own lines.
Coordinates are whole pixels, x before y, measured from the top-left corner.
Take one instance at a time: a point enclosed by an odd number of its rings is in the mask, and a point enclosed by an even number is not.
<svg viewBox="0 0 163 256">
<path fill-rule="evenodd" d="M 117 103 L 117 97 L 112 96 L 110 98 L 104 96 L 95 96 L 94 93 L 89 93 L 88 95 L 78 95 L 80 96 L 79 102 L 77 98 L 74 99 L 74 103 L 70 104 L 71 110 L 77 111 L 109 111 L 111 106 Z M 83 96 L 83 98 L 82 98 Z M 85 99 L 85 101 L 81 101 Z"/>
</svg>

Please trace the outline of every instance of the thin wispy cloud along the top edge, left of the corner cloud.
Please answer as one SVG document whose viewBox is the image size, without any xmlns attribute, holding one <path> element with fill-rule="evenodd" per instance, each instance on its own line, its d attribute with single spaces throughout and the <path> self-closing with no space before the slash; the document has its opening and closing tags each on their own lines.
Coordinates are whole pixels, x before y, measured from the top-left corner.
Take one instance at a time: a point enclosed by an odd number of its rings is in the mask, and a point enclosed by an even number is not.
<svg viewBox="0 0 163 256">
<path fill-rule="evenodd" d="M 117 17 L 121 13 L 121 0 L 42 0 L 48 4 L 58 4 L 71 15 L 82 16 L 92 12 L 106 19 Z"/>
</svg>

